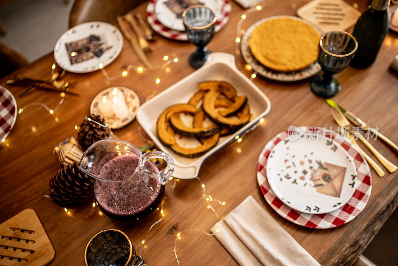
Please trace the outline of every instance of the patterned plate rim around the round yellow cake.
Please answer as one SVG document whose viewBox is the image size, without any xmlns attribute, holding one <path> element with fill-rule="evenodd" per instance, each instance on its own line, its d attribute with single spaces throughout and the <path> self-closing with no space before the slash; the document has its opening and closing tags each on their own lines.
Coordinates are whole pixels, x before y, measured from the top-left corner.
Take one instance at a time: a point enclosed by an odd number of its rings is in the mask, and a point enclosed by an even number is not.
<svg viewBox="0 0 398 266">
<path fill-rule="evenodd" d="M 311 26 L 313 26 L 319 34 L 323 33 L 323 30 L 315 25 L 314 23 L 302 19 L 297 16 L 288 16 L 288 15 L 276 15 L 276 16 L 270 16 L 266 17 L 263 19 L 258 20 L 257 22 L 253 23 L 251 26 L 247 28 L 245 33 L 243 33 L 241 41 L 240 41 L 240 51 L 242 53 L 243 59 L 246 61 L 247 64 L 251 65 L 253 70 L 256 71 L 258 74 L 272 80 L 277 80 L 277 81 L 298 81 L 298 80 L 303 80 L 309 77 L 312 77 L 313 75 L 317 74 L 321 68 L 318 62 L 313 62 L 311 65 L 309 65 L 307 68 L 299 71 L 293 71 L 293 72 L 279 72 L 276 70 L 269 69 L 265 67 L 263 64 L 261 64 L 257 59 L 254 57 L 252 52 L 250 51 L 249 47 L 249 38 L 250 35 L 252 34 L 253 30 L 263 23 L 264 21 L 271 20 L 271 19 L 276 19 L 276 18 L 282 18 L 282 17 L 287 17 L 287 18 L 292 18 L 292 19 L 297 19 L 300 21 L 303 21 Z"/>
</svg>

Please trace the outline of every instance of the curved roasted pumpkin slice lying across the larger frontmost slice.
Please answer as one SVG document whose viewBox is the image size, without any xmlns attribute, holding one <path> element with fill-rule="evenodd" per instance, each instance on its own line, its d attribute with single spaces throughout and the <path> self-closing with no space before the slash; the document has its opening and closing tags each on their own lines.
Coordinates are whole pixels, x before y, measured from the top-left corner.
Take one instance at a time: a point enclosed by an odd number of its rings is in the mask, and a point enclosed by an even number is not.
<svg viewBox="0 0 398 266">
<path fill-rule="evenodd" d="M 199 111 L 202 112 L 202 111 Z M 173 128 L 173 130 L 177 133 L 180 133 L 185 136 L 212 136 L 215 133 L 218 133 L 220 131 L 220 128 L 217 125 L 211 125 L 207 127 L 188 127 L 187 125 L 184 124 L 184 122 L 181 120 L 180 113 L 174 113 L 170 117 L 170 125 Z"/>
</svg>

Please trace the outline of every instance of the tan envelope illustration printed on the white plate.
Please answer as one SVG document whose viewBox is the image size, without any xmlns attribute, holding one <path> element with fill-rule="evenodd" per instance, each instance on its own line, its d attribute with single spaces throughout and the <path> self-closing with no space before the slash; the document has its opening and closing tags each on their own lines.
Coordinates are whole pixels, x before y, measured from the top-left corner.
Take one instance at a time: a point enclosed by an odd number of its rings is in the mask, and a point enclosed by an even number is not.
<svg viewBox="0 0 398 266">
<path fill-rule="evenodd" d="M 313 187 L 318 193 L 339 198 L 347 167 L 328 162 L 322 163 L 320 160 L 316 163 L 318 168 L 313 169 L 310 178 L 314 183 Z"/>
</svg>

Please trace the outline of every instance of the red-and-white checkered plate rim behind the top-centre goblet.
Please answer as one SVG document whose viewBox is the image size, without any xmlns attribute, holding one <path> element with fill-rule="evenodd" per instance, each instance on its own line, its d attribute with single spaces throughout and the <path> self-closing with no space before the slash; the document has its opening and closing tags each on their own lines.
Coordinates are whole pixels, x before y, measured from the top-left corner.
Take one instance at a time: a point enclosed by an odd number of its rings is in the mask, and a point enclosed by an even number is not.
<svg viewBox="0 0 398 266">
<path fill-rule="evenodd" d="M 231 4 L 228 0 L 219 1 L 223 1 L 223 4 L 221 6 L 220 15 L 217 17 L 217 21 L 215 22 L 216 32 L 219 31 L 228 22 L 232 9 Z M 188 36 L 187 34 L 185 34 L 185 31 L 171 29 L 160 23 L 155 14 L 155 3 L 156 0 L 151 0 L 146 7 L 147 20 L 152 29 L 166 38 L 179 41 L 188 41 Z"/>
</svg>

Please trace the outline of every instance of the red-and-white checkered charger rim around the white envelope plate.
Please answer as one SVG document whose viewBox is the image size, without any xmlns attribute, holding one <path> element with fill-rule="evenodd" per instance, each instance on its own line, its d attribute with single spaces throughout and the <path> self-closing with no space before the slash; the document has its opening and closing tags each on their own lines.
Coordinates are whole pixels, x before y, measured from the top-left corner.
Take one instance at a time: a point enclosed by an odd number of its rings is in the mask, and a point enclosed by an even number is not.
<svg viewBox="0 0 398 266">
<path fill-rule="evenodd" d="M 302 128 L 301 128 L 302 129 Z M 310 130 L 319 132 L 319 135 L 323 135 L 323 129 L 321 128 L 304 128 L 304 130 Z M 288 132 L 279 133 L 273 139 L 271 139 L 267 145 L 265 145 L 263 151 L 258 159 L 257 166 L 257 181 L 259 183 L 261 192 L 264 195 L 265 200 L 270 206 L 285 219 L 310 228 L 316 229 L 327 229 L 340 226 L 348 223 L 365 208 L 368 203 L 370 193 L 372 190 L 372 178 L 369 170 L 369 166 L 362 156 L 361 153 L 347 140 L 344 140 L 340 135 L 334 132 L 325 132 L 324 135 L 335 140 L 339 143 L 350 156 L 353 158 L 355 167 L 357 169 L 357 180 L 358 187 L 354 192 L 352 198 L 341 208 L 334 210 L 330 213 L 324 214 L 308 214 L 298 212 L 289 206 L 285 205 L 272 191 L 266 174 L 267 159 L 270 152 L 278 144 L 279 141 L 288 137 Z"/>
</svg>

